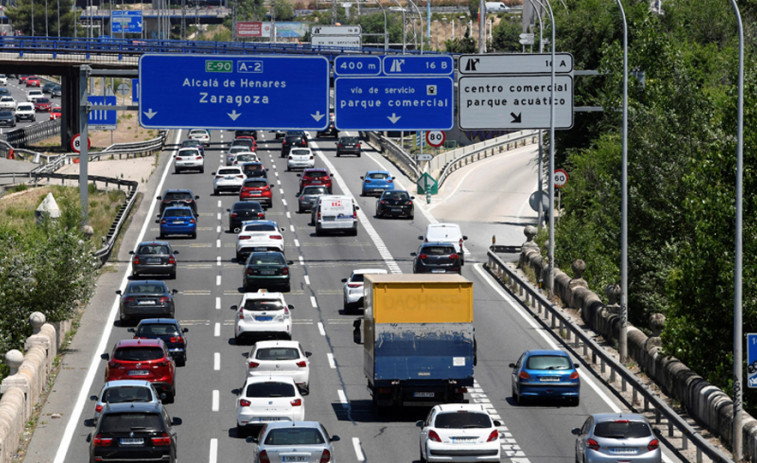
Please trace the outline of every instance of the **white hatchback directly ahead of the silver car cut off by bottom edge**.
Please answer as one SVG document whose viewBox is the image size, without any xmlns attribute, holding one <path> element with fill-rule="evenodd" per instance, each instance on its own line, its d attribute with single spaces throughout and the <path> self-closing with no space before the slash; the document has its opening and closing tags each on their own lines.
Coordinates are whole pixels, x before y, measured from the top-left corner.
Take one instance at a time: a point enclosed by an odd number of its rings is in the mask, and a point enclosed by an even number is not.
<svg viewBox="0 0 757 463">
<path fill-rule="evenodd" d="M 257 376 L 247 378 L 237 396 L 237 432 L 251 425 L 272 421 L 303 421 L 305 401 L 292 378 Z M 296 461 L 296 460 L 293 460 Z"/>
</svg>

